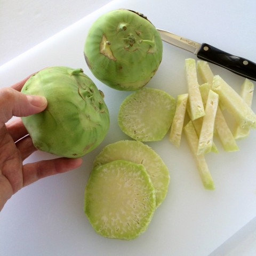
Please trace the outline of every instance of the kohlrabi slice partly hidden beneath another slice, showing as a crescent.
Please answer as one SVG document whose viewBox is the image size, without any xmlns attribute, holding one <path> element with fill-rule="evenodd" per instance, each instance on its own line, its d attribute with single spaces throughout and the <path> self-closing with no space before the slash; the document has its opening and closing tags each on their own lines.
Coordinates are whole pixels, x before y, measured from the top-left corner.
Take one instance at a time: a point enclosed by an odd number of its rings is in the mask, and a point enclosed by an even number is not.
<svg viewBox="0 0 256 256">
<path fill-rule="evenodd" d="M 170 174 L 162 158 L 140 141 L 121 140 L 107 145 L 94 160 L 94 167 L 123 159 L 145 166 L 156 189 L 156 207 L 164 200 L 170 182 Z"/>
</svg>

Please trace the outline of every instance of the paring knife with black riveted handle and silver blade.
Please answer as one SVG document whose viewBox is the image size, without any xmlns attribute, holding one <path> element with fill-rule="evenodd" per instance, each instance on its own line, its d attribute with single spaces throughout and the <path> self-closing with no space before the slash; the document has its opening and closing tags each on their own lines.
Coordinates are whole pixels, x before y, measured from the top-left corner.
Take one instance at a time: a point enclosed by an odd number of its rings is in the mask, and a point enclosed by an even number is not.
<svg viewBox="0 0 256 256">
<path fill-rule="evenodd" d="M 202 59 L 220 67 L 226 68 L 233 73 L 256 81 L 256 63 L 223 52 L 210 44 L 191 41 L 170 33 L 169 31 L 157 29 L 164 42 L 180 47 L 183 50 L 194 53 L 198 59 Z"/>
</svg>

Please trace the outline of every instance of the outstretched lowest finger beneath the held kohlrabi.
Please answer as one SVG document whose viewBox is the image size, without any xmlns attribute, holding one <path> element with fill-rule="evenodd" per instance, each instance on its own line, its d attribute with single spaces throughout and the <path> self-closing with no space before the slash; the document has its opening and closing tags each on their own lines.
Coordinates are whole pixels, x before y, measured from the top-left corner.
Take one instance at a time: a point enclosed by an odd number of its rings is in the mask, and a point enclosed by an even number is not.
<svg viewBox="0 0 256 256">
<path fill-rule="evenodd" d="M 76 169 L 82 164 L 82 158 L 55 158 L 29 163 L 23 166 L 23 187 L 50 175 Z"/>
</svg>

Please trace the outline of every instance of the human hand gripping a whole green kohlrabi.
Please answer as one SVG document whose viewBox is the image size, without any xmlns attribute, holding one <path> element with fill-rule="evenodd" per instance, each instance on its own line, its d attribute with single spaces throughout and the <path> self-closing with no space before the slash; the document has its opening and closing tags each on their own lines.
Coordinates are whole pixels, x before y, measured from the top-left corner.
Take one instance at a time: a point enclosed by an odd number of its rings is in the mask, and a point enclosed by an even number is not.
<svg viewBox="0 0 256 256">
<path fill-rule="evenodd" d="M 29 77 L 10 88 L 0 89 L 0 211 L 22 187 L 49 175 L 67 172 L 82 164 L 81 158 L 56 158 L 23 165 L 36 148 L 21 118 L 43 111 L 44 97 L 20 93 Z"/>
</svg>

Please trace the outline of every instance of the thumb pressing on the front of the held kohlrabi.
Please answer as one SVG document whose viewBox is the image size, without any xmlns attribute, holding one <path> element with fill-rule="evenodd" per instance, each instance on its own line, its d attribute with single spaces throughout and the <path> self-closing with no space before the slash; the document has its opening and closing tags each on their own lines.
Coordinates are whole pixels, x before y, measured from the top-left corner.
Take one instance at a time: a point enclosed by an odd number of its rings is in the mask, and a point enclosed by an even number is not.
<svg viewBox="0 0 256 256">
<path fill-rule="evenodd" d="M 47 100 L 43 96 L 26 95 L 12 88 L 0 90 L 0 122 L 6 123 L 12 116 L 29 116 L 43 111 Z"/>
</svg>

